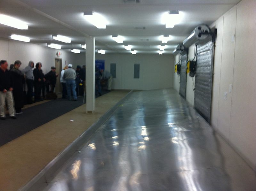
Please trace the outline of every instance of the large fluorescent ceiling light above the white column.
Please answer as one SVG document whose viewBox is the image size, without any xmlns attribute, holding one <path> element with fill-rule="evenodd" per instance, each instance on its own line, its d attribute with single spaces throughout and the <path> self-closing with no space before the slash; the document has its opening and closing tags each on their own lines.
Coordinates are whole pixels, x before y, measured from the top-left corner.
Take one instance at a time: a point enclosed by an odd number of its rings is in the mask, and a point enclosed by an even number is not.
<svg viewBox="0 0 256 191">
<path fill-rule="evenodd" d="M 106 28 L 107 20 L 99 13 L 92 11 L 84 12 L 84 19 L 97 28 Z"/>
</svg>

